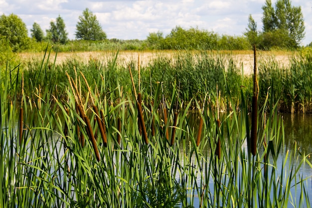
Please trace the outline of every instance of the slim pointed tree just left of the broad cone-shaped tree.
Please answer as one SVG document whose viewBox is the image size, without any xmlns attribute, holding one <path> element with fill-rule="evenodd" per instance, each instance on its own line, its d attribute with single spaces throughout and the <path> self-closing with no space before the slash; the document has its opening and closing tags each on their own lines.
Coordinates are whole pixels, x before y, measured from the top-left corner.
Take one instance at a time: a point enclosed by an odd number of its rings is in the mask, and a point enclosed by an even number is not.
<svg viewBox="0 0 312 208">
<path fill-rule="evenodd" d="M 54 43 L 65 44 L 68 41 L 68 33 L 66 32 L 65 27 L 63 18 L 58 15 L 56 22 L 51 21 L 50 28 L 46 30 L 47 39 Z"/>
</svg>

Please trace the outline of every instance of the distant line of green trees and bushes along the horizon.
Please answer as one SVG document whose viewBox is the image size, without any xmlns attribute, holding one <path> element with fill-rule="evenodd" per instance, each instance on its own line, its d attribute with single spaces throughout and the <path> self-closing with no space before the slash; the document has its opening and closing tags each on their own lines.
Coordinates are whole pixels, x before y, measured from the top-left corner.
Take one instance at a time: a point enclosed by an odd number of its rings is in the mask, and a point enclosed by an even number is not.
<svg viewBox="0 0 312 208">
<path fill-rule="evenodd" d="M 256 44 L 258 48 L 298 48 L 305 37 L 304 18 L 300 6 L 293 6 L 290 0 L 277 0 L 273 7 L 271 0 L 266 0 L 262 7 L 262 30 L 250 14 L 246 31 L 240 36 L 218 34 L 213 31 L 190 27 L 176 26 L 166 36 L 161 31 L 151 32 L 146 40 L 107 39 L 95 14 L 86 8 L 78 17 L 76 24 L 76 40 L 68 39 L 68 32 L 63 18 L 59 15 L 50 22 L 46 35 L 40 25 L 33 23 L 30 29 L 31 38 L 27 35 L 25 23 L 15 14 L 0 16 L 0 46 L 8 45 L 12 51 L 31 49 L 35 42 L 53 42 L 66 45 L 85 44 L 84 41 L 96 41 L 107 44 L 124 45 L 124 49 L 215 49 L 246 50 Z M 6 44 L 8 43 L 8 44 Z M 312 46 L 312 43 L 310 43 Z M 81 50 L 85 47 L 82 46 Z M 78 47 L 76 47 L 78 48 Z M 101 45 L 101 48 L 103 46 Z"/>
</svg>

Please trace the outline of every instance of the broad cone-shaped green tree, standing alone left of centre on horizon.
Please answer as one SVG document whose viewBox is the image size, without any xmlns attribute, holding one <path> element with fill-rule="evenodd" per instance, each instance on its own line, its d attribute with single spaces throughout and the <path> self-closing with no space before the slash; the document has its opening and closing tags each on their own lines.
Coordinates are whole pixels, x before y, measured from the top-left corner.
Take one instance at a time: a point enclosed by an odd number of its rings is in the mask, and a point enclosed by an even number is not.
<svg viewBox="0 0 312 208">
<path fill-rule="evenodd" d="M 86 8 L 82 15 L 78 17 L 79 21 L 76 24 L 76 38 L 83 40 L 104 40 L 106 33 L 102 30 L 96 15 Z"/>
</svg>

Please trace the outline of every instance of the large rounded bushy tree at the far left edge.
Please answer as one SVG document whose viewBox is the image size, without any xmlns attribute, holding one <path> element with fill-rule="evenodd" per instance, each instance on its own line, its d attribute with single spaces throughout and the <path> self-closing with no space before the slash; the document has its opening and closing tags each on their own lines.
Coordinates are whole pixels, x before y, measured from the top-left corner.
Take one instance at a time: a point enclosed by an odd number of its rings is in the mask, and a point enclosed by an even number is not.
<svg viewBox="0 0 312 208">
<path fill-rule="evenodd" d="M 29 37 L 26 24 L 17 15 L 0 16 L 0 36 L 5 36 L 12 51 L 28 48 Z"/>
</svg>

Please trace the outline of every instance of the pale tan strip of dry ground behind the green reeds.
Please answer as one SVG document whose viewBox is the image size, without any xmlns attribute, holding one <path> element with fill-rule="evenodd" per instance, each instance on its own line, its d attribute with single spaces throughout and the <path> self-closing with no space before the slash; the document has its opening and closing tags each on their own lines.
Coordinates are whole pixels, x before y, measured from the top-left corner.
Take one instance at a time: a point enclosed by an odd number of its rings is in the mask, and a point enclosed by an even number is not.
<svg viewBox="0 0 312 208">
<path fill-rule="evenodd" d="M 209 51 L 210 53 L 211 51 Z M 236 60 L 239 67 L 244 67 L 244 74 L 250 75 L 253 72 L 253 50 L 244 51 L 212 51 L 215 54 L 230 55 Z M 129 61 L 137 62 L 138 54 L 140 54 L 141 66 L 146 66 L 150 61 L 157 57 L 173 58 L 181 51 L 173 50 L 161 50 L 161 51 L 120 51 L 118 54 L 118 64 L 127 64 Z M 194 51 L 195 53 L 195 51 Z M 20 59 L 23 60 L 42 60 L 44 52 L 23 52 L 17 54 Z M 61 64 L 68 59 L 78 59 L 82 61 L 100 60 L 107 61 L 112 60 L 116 55 L 116 51 L 91 51 L 91 52 L 59 52 L 56 57 L 56 64 Z M 296 55 L 296 54 L 295 54 Z M 294 56 L 294 52 L 291 51 L 259 51 L 258 60 L 275 59 L 281 66 L 287 67 L 289 65 L 290 58 Z M 51 57 L 55 57 L 55 54 L 51 53 Z M 52 60 L 51 60 L 52 61 Z M 125 66 L 127 67 L 127 65 Z"/>
</svg>

